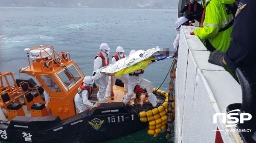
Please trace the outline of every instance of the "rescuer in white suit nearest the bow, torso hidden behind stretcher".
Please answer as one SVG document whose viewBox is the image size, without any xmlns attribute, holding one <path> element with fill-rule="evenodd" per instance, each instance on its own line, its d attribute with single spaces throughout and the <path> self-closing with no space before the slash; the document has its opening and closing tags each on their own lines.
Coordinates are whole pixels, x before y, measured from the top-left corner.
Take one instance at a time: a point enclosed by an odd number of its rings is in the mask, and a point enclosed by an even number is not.
<svg viewBox="0 0 256 143">
<path fill-rule="evenodd" d="M 130 54 L 135 53 L 136 50 L 131 50 Z M 128 76 L 128 93 L 126 93 L 124 97 L 124 103 L 128 104 L 130 102 L 131 97 L 134 95 L 134 87 L 136 85 L 140 85 L 141 87 L 145 87 L 148 92 L 148 101 L 153 105 L 153 107 L 157 106 L 157 97 L 152 93 L 153 86 L 150 81 L 143 79 L 144 70 L 136 70 L 132 73 L 129 73 Z"/>
</svg>

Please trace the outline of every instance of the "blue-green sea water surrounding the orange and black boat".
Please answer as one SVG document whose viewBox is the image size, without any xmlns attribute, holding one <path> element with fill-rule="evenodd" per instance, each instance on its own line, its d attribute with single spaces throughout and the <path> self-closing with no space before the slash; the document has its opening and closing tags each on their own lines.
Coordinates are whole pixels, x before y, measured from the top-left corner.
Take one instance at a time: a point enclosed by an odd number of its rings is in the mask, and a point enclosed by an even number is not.
<svg viewBox="0 0 256 143">
<path fill-rule="evenodd" d="M 24 48 L 52 45 L 57 52 L 67 51 L 85 75 L 92 76 L 101 43 L 108 43 L 110 56 L 118 46 L 124 48 L 125 55 L 157 45 L 172 51 L 176 36 L 177 10 L 0 7 L 0 14 L 0 72 L 14 72 L 15 78 L 29 77 L 18 72 L 19 67 L 29 65 Z M 143 77 L 158 88 L 171 64 L 172 59 L 155 62 L 145 69 Z M 168 92 L 169 80 L 168 75 L 160 90 Z M 152 137 L 143 129 L 106 143 L 166 143 L 165 137 L 166 132 Z M 172 143 L 173 126 L 170 138 Z"/>
</svg>

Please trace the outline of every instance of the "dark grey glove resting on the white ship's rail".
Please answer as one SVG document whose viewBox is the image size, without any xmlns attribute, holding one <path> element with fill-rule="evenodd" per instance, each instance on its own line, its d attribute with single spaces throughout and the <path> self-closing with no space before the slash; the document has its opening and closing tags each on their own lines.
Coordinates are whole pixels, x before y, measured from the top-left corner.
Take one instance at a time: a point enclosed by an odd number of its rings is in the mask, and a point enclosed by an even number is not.
<svg viewBox="0 0 256 143">
<path fill-rule="evenodd" d="M 215 50 L 212 53 L 210 53 L 208 62 L 211 64 L 216 64 L 216 65 L 224 67 L 224 66 L 226 66 L 226 64 L 224 64 L 222 62 L 222 59 L 224 58 L 225 54 L 226 54 L 226 52 L 221 52 L 220 50 Z"/>
</svg>

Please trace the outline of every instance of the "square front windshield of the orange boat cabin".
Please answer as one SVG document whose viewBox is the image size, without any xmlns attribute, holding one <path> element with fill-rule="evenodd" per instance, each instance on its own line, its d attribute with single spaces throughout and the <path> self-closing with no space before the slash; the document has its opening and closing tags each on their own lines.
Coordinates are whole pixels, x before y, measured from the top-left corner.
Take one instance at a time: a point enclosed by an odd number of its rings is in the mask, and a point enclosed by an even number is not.
<svg viewBox="0 0 256 143">
<path fill-rule="evenodd" d="M 64 81 L 69 89 L 70 87 L 72 87 L 73 84 L 75 84 L 82 78 L 73 64 L 59 72 L 58 75 L 61 77 L 61 79 Z"/>
</svg>

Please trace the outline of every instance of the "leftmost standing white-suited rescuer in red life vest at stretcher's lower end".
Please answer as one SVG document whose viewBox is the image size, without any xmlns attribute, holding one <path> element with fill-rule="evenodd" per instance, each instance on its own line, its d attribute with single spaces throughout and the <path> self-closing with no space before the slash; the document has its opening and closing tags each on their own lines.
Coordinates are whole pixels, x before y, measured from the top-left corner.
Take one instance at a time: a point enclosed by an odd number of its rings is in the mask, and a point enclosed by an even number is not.
<svg viewBox="0 0 256 143">
<path fill-rule="evenodd" d="M 99 92 L 97 94 L 98 101 L 99 103 L 104 103 L 106 101 L 104 95 L 106 93 L 108 83 L 106 81 L 106 75 L 104 73 L 96 73 L 96 70 L 109 64 L 108 54 L 110 53 L 110 48 L 108 47 L 108 44 L 102 43 L 99 49 L 101 51 L 94 58 L 93 80 L 99 87 Z"/>
</svg>

